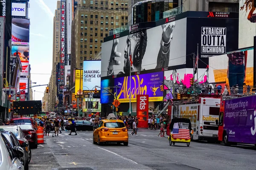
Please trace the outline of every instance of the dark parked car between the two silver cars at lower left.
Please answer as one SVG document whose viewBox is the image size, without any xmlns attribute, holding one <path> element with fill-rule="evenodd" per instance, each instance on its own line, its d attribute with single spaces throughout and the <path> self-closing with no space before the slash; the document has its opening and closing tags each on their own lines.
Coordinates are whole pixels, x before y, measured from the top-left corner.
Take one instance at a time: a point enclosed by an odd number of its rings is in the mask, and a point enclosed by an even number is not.
<svg viewBox="0 0 256 170">
<path fill-rule="evenodd" d="M 6 137 L 6 139 L 12 145 L 13 148 L 18 146 L 22 147 L 22 149 L 24 150 L 24 155 L 23 157 L 19 157 L 19 159 L 20 161 L 23 162 L 24 169 L 29 170 L 29 161 L 30 161 L 29 159 L 31 159 L 31 150 L 29 150 L 29 143 L 24 142 L 22 145 L 20 145 L 16 136 L 10 131 L 3 131 L 1 133 L 3 136 Z"/>
</svg>

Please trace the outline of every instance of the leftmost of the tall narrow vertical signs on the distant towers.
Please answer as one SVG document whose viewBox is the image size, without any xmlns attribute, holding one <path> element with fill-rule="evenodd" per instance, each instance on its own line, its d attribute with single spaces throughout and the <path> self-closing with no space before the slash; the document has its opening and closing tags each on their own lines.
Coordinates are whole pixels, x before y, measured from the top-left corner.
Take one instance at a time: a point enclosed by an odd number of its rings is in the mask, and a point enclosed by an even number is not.
<svg viewBox="0 0 256 170">
<path fill-rule="evenodd" d="M 66 26 L 66 2 L 61 1 L 61 59 L 60 59 L 60 82 L 59 90 L 64 88 L 65 73 L 65 26 Z"/>
</svg>

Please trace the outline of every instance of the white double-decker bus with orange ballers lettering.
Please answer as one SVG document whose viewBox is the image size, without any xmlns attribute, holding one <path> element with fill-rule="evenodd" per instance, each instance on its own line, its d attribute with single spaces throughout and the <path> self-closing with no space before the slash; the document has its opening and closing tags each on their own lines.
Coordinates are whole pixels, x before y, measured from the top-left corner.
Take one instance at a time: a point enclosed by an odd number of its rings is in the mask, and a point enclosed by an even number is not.
<svg viewBox="0 0 256 170">
<path fill-rule="evenodd" d="M 220 112 L 219 97 L 199 97 L 188 101 L 173 102 L 172 111 L 168 112 L 169 119 L 188 118 L 191 121 L 193 134 L 192 140 L 206 140 L 208 142 L 218 141 L 218 125 Z M 188 124 L 182 123 L 180 126 L 186 128 Z"/>
</svg>

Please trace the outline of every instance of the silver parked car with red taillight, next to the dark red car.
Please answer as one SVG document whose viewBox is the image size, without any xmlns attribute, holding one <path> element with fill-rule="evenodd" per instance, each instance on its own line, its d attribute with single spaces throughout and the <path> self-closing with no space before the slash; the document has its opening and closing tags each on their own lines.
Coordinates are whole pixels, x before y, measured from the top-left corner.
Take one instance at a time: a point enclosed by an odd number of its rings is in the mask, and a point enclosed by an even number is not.
<svg viewBox="0 0 256 170">
<path fill-rule="evenodd" d="M 29 147 L 29 142 L 26 138 L 30 138 L 31 135 L 27 135 L 25 137 L 23 131 L 17 125 L 0 126 L 0 132 L 3 132 L 3 131 L 9 131 L 17 138 L 20 146 L 23 148 L 23 150 L 25 152 L 25 156 L 27 158 L 26 161 L 29 163 L 31 160 L 31 150 Z M 12 144 L 14 142 L 10 142 L 10 143 Z M 14 145 L 14 144 L 12 144 L 12 145 Z"/>
</svg>

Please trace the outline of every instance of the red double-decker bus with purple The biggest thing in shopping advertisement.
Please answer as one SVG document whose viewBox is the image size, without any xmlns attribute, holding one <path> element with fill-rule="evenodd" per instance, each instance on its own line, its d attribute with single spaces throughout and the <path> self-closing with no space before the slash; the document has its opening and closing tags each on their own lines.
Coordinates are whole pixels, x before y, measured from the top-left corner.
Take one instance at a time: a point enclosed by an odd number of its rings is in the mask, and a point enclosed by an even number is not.
<svg viewBox="0 0 256 170">
<path fill-rule="evenodd" d="M 221 98 L 218 140 L 226 146 L 254 144 L 256 146 L 256 94 L 249 92 Z"/>
</svg>

